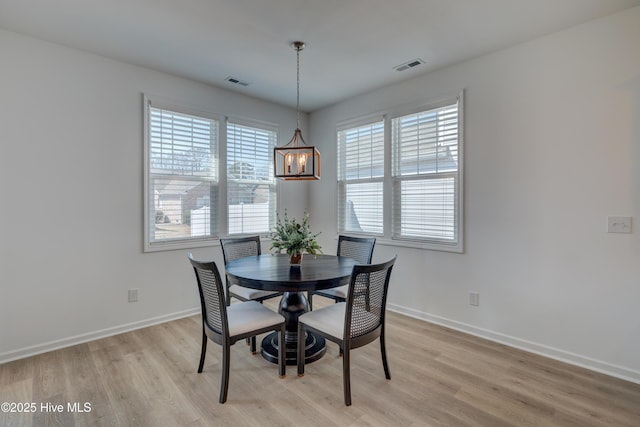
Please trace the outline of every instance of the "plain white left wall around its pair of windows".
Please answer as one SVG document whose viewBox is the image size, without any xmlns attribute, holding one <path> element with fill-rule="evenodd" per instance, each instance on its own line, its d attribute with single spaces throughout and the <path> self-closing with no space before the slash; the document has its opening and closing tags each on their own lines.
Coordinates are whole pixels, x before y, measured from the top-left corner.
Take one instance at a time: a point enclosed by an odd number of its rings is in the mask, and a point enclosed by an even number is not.
<svg viewBox="0 0 640 427">
<path fill-rule="evenodd" d="M 280 124 L 281 144 L 295 111 L 1 30 L 0 52 L 0 363 L 199 311 L 187 251 L 142 252 L 142 93 Z"/>
</svg>

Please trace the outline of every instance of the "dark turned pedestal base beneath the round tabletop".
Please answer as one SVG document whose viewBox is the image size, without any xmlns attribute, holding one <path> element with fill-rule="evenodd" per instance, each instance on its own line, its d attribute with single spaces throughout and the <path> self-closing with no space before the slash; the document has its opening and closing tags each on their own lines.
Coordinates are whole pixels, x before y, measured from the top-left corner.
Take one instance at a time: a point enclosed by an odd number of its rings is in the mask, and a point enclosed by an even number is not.
<svg viewBox="0 0 640 427">
<path fill-rule="evenodd" d="M 286 361 L 287 365 L 298 363 L 298 317 L 309 311 L 309 304 L 304 292 L 285 292 L 280 300 L 278 313 L 286 323 Z M 305 363 L 315 362 L 327 351 L 325 339 L 307 332 L 305 337 Z M 278 363 L 278 333 L 273 332 L 262 340 L 262 357 L 271 363 Z"/>
</svg>

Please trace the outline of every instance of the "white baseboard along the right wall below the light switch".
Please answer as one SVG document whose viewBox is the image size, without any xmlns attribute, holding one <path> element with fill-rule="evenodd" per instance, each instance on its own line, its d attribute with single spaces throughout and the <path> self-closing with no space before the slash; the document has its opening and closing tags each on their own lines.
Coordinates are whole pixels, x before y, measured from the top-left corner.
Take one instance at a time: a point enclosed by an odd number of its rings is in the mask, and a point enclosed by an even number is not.
<svg viewBox="0 0 640 427">
<path fill-rule="evenodd" d="M 500 344 L 508 345 L 520 350 L 527 351 L 529 353 L 545 356 L 550 359 L 559 360 L 561 362 L 569 363 L 571 365 L 580 366 L 592 371 L 600 372 L 612 377 L 620 378 L 625 381 L 630 381 L 636 384 L 640 384 L 640 372 L 626 368 L 624 366 L 617 366 L 611 363 L 603 362 L 601 360 L 592 359 L 589 357 L 581 356 L 579 354 L 571 353 L 565 350 L 561 350 L 554 347 L 549 347 L 543 344 L 522 340 L 520 338 L 512 337 L 509 335 L 501 334 L 499 332 L 490 331 L 488 329 L 478 328 L 477 326 L 469 325 L 466 323 L 458 322 L 455 320 L 447 319 L 444 317 L 436 316 L 429 313 L 420 312 L 408 307 L 403 307 L 395 304 L 388 304 L 389 311 L 404 314 L 416 319 L 424 320 L 426 322 L 435 323 L 440 326 L 454 329 L 456 331 L 464 332 L 470 335 L 474 335 L 480 338 L 494 341 Z"/>
</svg>

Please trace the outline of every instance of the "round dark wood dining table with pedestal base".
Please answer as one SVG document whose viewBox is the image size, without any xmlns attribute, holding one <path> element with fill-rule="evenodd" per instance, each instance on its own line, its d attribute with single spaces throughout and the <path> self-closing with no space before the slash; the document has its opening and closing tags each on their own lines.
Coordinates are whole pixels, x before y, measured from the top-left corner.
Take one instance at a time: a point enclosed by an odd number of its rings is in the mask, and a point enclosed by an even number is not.
<svg viewBox="0 0 640 427">
<path fill-rule="evenodd" d="M 305 293 L 333 288 L 349 283 L 356 261 L 334 255 L 304 254 L 299 266 L 292 266 L 289 257 L 258 255 L 240 258 L 225 267 L 233 284 L 264 291 L 284 292 L 278 312 L 286 319 L 287 365 L 297 363 L 298 317 L 309 311 Z M 271 333 L 262 340 L 262 356 L 278 363 L 278 334 Z M 305 363 L 320 359 L 326 351 L 325 339 L 307 333 Z"/>
</svg>

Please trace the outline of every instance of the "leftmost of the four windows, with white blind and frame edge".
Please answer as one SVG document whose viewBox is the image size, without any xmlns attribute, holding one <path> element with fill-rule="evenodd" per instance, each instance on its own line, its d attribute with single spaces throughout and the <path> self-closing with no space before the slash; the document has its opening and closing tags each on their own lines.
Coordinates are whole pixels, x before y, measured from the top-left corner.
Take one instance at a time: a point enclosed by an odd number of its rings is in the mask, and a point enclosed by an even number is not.
<svg viewBox="0 0 640 427">
<path fill-rule="evenodd" d="M 207 243 L 218 231 L 219 121 L 145 105 L 145 250 Z"/>
</svg>

